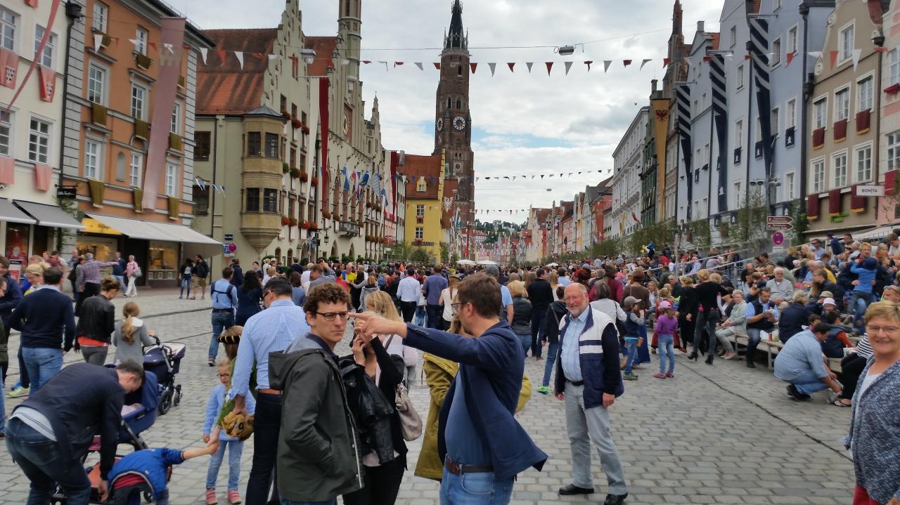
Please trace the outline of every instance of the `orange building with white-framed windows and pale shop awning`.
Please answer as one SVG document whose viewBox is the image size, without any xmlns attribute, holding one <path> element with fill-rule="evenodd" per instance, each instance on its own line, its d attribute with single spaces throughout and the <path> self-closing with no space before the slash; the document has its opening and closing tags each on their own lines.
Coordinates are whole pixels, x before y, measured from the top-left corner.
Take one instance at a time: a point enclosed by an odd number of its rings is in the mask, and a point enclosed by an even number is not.
<svg viewBox="0 0 900 505">
<path fill-rule="evenodd" d="M 179 14 L 156 0 L 82 2 L 69 36 L 62 184 L 76 188 L 71 210 L 85 229 L 64 244 L 99 260 L 133 254 L 144 271 L 139 284 L 174 286 L 185 257 L 221 253 L 190 227 L 196 68 L 200 49 L 214 44 L 187 22 L 183 49 L 166 47 L 160 24 Z M 173 111 L 151 124 L 161 68 L 179 53 Z M 153 135 L 167 137 L 165 166 L 148 167 Z M 144 190 L 153 187 L 157 198 L 145 207 Z"/>
</svg>

